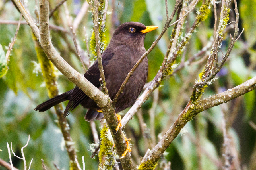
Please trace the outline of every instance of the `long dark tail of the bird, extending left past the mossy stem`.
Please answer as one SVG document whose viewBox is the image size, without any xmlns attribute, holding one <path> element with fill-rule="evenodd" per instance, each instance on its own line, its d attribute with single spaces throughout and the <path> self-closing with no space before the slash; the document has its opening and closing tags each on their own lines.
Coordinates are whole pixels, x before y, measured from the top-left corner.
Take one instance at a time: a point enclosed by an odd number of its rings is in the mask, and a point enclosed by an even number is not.
<svg viewBox="0 0 256 170">
<path fill-rule="evenodd" d="M 62 93 L 61 95 L 55 96 L 41 104 L 39 104 L 38 106 L 36 106 L 36 108 L 34 110 L 38 110 L 39 112 L 44 112 L 46 110 L 48 110 L 49 108 L 51 108 L 52 106 L 55 106 L 56 104 L 59 104 L 61 102 L 64 102 L 66 100 L 69 100 L 69 95 L 70 95 L 70 91 L 67 91 L 65 93 Z"/>
</svg>

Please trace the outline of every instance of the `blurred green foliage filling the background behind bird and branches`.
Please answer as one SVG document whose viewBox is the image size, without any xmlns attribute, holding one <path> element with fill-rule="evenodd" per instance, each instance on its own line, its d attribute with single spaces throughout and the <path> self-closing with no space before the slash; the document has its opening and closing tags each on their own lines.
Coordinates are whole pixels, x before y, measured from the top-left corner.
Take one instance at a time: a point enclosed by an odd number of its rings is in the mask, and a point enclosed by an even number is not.
<svg viewBox="0 0 256 170">
<path fill-rule="evenodd" d="M 50 1 L 50 7 L 53 9 L 59 1 Z M 114 2 L 114 5 L 112 4 Z M 84 1 L 67 1 L 71 16 L 75 18 Z M 240 32 L 245 28 L 244 33 L 235 45 L 230 58 L 224 65 L 224 68 L 218 74 L 219 79 L 207 87 L 203 98 L 219 93 L 237 86 L 249 78 L 256 76 L 256 2 L 254 0 L 240 0 L 238 7 L 240 11 Z M 169 15 L 172 12 L 175 1 L 168 0 Z M 234 2 L 232 2 L 234 7 Z M 32 16 L 34 15 L 34 1 L 28 2 L 28 9 Z M 197 5 L 195 8 L 198 9 Z M 217 5 L 219 7 L 219 5 Z M 141 22 L 144 25 L 157 25 L 156 31 L 146 35 L 145 48 L 148 49 L 156 39 L 166 21 L 165 2 L 163 0 L 120 0 L 110 1 L 109 11 L 111 15 L 106 20 L 106 39 L 109 42 L 113 30 L 121 23 L 128 21 Z M 217 12 L 219 8 L 217 8 Z M 11 1 L 0 1 L 0 20 L 18 20 L 19 13 Z M 195 20 L 196 12 L 191 12 L 186 18 L 184 30 L 190 28 Z M 230 21 L 234 20 L 234 10 L 230 11 Z M 56 24 L 69 30 L 63 7 L 55 12 L 55 16 L 50 20 L 51 24 Z M 211 16 L 198 28 L 198 32 L 193 34 L 187 45 L 183 56 L 178 58 L 177 63 L 187 60 L 202 47 L 204 47 L 213 34 L 214 16 Z M 84 41 L 83 26 L 91 37 L 92 19 L 90 14 L 85 15 L 77 29 L 77 37 L 82 49 L 86 49 Z M 155 49 L 148 55 L 149 73 L 148 81 L 151 81 L 156 75 L 164 58 L 167 45 L 170 38 L 171 29 L 162 37 Z M 16 25 L 0 24 L 0 43 L 4 51 L 0 48 L 0 64 L 5 58 L 5 47 L 8 46 L 11 38 L 14 36 Z M 222 43 L 222 51 L 225 53 L 229 35 L 232 29 L 228 29 L 225 39 Z M 11 52 L 8 64 L 9 70 L 5 76 L 0 78 L 0 158 L 9 161 L 6 142 L 13 143 L 14 152 L 20 156 L 20 148 L 24 146 L 30 134 L 28 147 L 24 149 L 27 162 L 34 158 L 31 169 L 41 169 L 41 158 L 44 159 L 48 170 L 55 169 L 53 162 L 59 165 L 61 169 L 68 169 L 69 160 L 63 137 L 57 126 L 57 116 L 54 110 L 46 112 L 36 112 L 33 109 L 48 99 L 47 90 L 42 79 L 40 69 L 38 69 L 36 52 L 32 41 L 32 34 L 29 26 L 21 25 L 18 32 L 17 41 Z M 53 45 L 57 48 L 61 56 L 80 73 L 83 73 L 82 65 L 74 49 L 72 37 L 69 34 L 51 30 Z M 91 53 L 92 54 L 92 53 Z M 220 58 L 222 53 L 219 54 Z M 93 59 L 92 56 L 91 59 Z M 199 58 L 197 59 L 199 60 Z M 35 61 L 34 63 L 32 61 Z M 202 70 L 206 60 L 199 64 L 192 64 L 180 70 L 172 77 L 167 78 L 160 87 L 158 105 L 155 111 L 155 132 L 157 141 L 158 136 L 164 134 L 161 132 L 168 130 L 168 127 L 175 121 L 177 115 L 183 110 L 191 91 Z M 1 67 L 1 66 L 0 66 Z M 57 72 L 58 88 L 60 93 L 72 89 L 75 85 L 66 77 Z M 1 75 L 0 75 L 1 76 Z M 234 150 L 238 154 L 240 165 L 245 165 L 249 170 L 255 170 L 256 154 L 255 137 L 256 131 L 249 125 L 249 121 L 256 123 L 256 92 L 252 91 L 239 97 L 228 104 L 225 104 L 226 123 L 230 138 L 232 139 Z M 141 112 L 147 128 L 150 128 L 148 111 L 152 106 L 152 97 L 143 105 Z M 67 102 L 64 102 L 66 105 Z M 224 104 L 223 104 L 224 105 Z M 126 110 L 127 111 L 127 110 Z M 126 111 L 123 111 L 123 116 Z M 179 135 L 170 148 L 164 154 L 167 161 L 171 161 L 172 169 L 221 169 L 224 153 L 222 143 L 223 134 L 221 126 L 221 106 L 211 108 L 200 113 L 195 119 L 190 121 L 185 128 L 188 133 Z M 86 169 L 98 168 L 98 157 L 91 159 L 89 144 L 93 143 L 90 124 L 84 120 L 86 110 L 79 106 L 70 114 L 67 119 L 71 127 L 71 136 L 75 142 L 78 159 L 85 157 Z M 135 116 L 125 129 L 128 138 L 132 138 L 131 143 L 132 156 L 134 163 L 138 164 L 139 156 L 144 156 L 146 150 L 150 147 L 147 140 L 143 137 L 139 116 Z M 96 121 L 96 126 L 100 123 Z M 129 129 L 129 130 L 128 130 Z M 99 129 L 97 128 L 99 131 Z M 148 130 L 148 129 L 146 129 Z M 128 132 L 129 131 L 129 132 Z M 135 156 L 134 153 L 137 153 Z M 253 161 L 254 160 L 254 161 Z M 160 160 L 161 163 L 162 160 Z M 218 162 L 222 163 L 218 165 Z M 23 169 L 23 162 L 13 157 L 14 166 Z M 159 164 L 160 164 L 159 163 Z M 160 166 L 157 167 L 158 169 Z M 5 168 L 0 167 L 0 170 Z"/>
</svg>

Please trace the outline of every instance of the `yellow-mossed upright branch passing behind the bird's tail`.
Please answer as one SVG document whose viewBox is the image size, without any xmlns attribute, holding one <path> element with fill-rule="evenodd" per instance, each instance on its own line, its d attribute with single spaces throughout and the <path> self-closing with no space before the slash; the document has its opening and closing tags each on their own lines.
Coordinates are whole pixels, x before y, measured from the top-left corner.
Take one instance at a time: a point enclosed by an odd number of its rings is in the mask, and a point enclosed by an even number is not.
<svg viewBox="0 0 256 170">
<path fill-rule="evenodd" d="M 57 76 L 55 75 L 54 66 L 52 62 L 47 58 L 46 54 L 40 47 L 35 35 L 32 33 L 36 55 L 38 61 L 41 66 L 44 82 L 46 84 L 46 89 L 48 91 L 48 96 L 50 98 L 58 95 L 59 91 L 57 88 Z M 74 142 L 70 135 L 69 124 L 66 118 L 63 118 L 63 108 L 61 104 L 57 104 L 54 106 L 58 117 L 58 125 L 61 129 L 61 133 L 64 137 L 65 146 L 67 149 L 67 153 L 70 159 L 70 170 L 78 170 L 77 164 L 75 163 L 75 159 L 77 158 L 77 154 L 74 148 Z"/>
</svg>

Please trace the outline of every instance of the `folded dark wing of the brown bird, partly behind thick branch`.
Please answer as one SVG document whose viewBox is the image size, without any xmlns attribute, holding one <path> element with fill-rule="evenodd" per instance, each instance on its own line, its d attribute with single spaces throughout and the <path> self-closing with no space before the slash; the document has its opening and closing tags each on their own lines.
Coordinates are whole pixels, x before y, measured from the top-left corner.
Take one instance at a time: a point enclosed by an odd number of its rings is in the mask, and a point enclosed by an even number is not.
<svg viewBox="0 0 256 170">
<path fill-rule="evenodd" d="M 109 60 L 114 56 L 113 53 L 108 53 L 108 50 L 102 54 L 102 65 L 103 68 L 105 68 L 108 65 Z M 100 87 L 100 70 L 98 68 L 98 60 L 92 64 L 92 66 L 87 70 L 87 72 L 84 74 L 84 77 L 90 81 L 94 86 Z M 86 98 L 86 94 L 79 89 L 77 86 L 73 89 L 73 92 L 71 94 L 71 98 L 69 100 L 69 103 L 67 104 L 67 107 L 64 111 L 63 117 L 66 117 L 69 115 L 69 113 L 74 110 L 81 102 Z"/>
</svg>

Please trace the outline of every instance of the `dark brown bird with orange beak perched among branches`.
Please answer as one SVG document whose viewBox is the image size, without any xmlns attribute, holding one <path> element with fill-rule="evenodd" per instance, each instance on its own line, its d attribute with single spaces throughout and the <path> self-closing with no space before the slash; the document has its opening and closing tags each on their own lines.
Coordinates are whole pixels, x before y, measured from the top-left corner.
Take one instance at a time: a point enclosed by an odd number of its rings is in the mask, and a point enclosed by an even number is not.
<svg viewBox="0 0 256 170">
<path fill-rule="evenodd" d="M 139 58 L 146 52 L 144 39 L 147 32 L 155 30 L 157 26 L 144 26 L 139 22 L 126 22 L 121 24 L 114 32 L 113 37 L 104 53 L 102 53 L 102 64 L 106 79 L 106 86 L 110 98 L 113 100 L 121 87 L 129 71 L 133 68 Z M 115 104 L 115 112 L 118 113 L 132 104 L 138 98 L 143 86 L 146 83 L 148 75 L 148 59 L 145 58 L 135 70 L 133 75 L 123 89 Z M 100 71 L 98 60 L 84 74 L 94 86 L 100 87 Z M 66 117 L 79 104 L 88 108 L 85 115 L 86 121 L 103 118 L 103 114 L 98 112 L 100 108 L 77 86 L 61 95 L 55 96 L 46 102 L 38 105 L 35 110 L 44 112 L 56 104 L 69 100 L 64 111 L 63 117 Z"/>
</svg>

